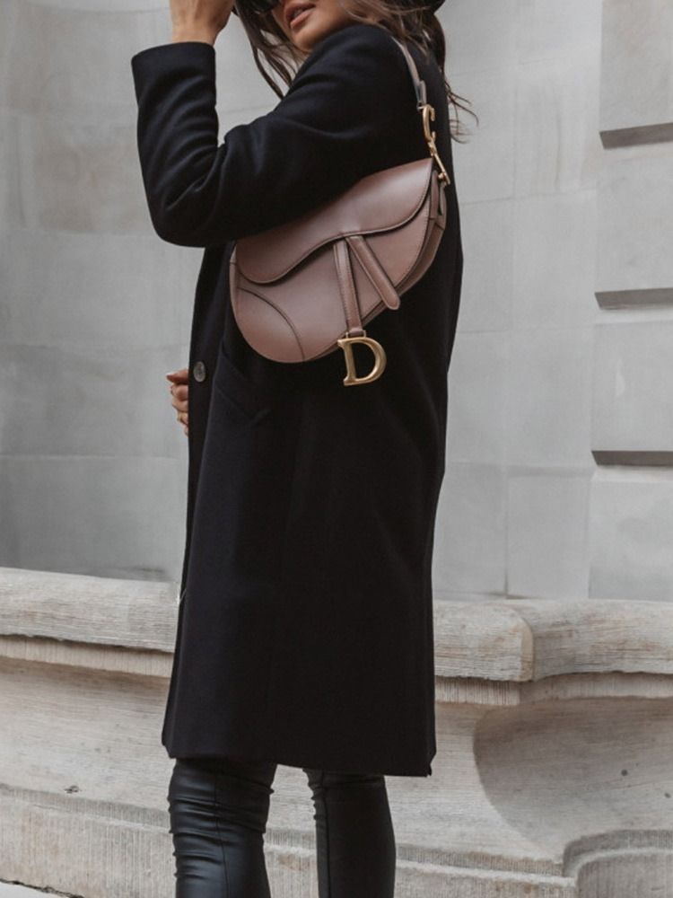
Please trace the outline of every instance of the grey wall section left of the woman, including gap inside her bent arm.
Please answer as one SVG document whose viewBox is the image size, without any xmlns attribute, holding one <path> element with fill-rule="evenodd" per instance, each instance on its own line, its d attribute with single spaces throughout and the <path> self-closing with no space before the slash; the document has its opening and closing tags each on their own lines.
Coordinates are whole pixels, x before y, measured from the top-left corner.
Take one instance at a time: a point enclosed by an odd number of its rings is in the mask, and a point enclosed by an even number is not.
<svg viewBox="0 0 673 898">
<path fill-rule="evenodd" d="M 0 563 L 179 577 L 187 439 L 164 374 L 187 364 L 202 251 L 153 232 L 130 66 L 170 40 L 168 9 L 0 4 Z M 221 134 L 275 105 L 231 25 Z"/>
</svg>

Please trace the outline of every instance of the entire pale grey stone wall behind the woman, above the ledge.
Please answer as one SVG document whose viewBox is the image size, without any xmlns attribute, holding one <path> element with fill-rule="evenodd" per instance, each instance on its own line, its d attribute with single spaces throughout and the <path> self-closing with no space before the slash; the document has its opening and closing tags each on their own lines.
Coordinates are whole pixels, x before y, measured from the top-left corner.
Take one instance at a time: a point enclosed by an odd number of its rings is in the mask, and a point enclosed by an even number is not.
<svg viewBox="0 0 673 898">
<path fill-rule="evenodd" d="M 4 0 L 0 561 L 177 579 L 201 251 L 153 233 L 130 57 L 167 4 Z M 448 0 L 465 278 L 439 599 L 670 595 L 669 4 Z M 220 134 L 271 109 L 235 17 Z M 644 60 L 644 62 L 643 62 Z M 157 525 L 161 522 L 161 525 Z"/>
</svg>

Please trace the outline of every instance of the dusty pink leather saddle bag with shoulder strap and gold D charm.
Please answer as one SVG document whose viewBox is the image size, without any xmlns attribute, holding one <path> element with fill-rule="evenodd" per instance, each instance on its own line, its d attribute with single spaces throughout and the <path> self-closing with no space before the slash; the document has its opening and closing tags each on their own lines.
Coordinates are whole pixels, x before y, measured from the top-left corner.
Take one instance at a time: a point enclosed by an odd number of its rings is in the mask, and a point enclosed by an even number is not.
<svg viewBox="0 0 673 898">
<path fill-rule="evenodd" d="M 346 386 L 383 373 L 385 350 L 364 325 L 399 307 L 400 295 L 430 267 L 446 225 L 450 179 L 430 130 L 434 109 L 414 58 L 392 40 L 414 81 L 429 158 L 374 172 L 291 222 L 242 237 L 229 263 L 232 311 L 249 345 L 278 362 L 306 362 L 341 348 Z M 356 342 L 374 355 L 361 377 Z"/>
</svg>

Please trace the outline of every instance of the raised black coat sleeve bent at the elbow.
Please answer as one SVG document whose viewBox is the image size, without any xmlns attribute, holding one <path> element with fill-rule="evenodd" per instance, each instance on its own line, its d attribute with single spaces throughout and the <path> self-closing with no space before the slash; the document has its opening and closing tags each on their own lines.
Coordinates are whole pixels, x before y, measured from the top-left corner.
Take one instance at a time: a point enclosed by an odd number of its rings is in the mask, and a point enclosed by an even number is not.
<svg viewBox="0 0 673 898">
<path fill-rule="evenodd" d="M 220 145 L 211 44 L 147 48 L 131 66 L 153 227 L 182 246 L 236 240 L 336 198 L 419 119 L 405 58 L 366 23 L 319 41 L 275 108 Z"/>
</svg>

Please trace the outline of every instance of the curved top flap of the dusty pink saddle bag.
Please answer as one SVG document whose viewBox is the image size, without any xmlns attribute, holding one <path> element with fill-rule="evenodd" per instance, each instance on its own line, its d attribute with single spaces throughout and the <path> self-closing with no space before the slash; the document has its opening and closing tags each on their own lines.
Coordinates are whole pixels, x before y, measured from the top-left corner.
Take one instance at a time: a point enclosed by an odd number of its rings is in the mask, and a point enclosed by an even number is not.
<svg viewBox="0 0 673 898">
<path fill-rule="evenodd" d="M 293 221 L 242 237 L 235 257 L 240 272 L 257 283 L 274 281 L 327 242 L 404 225 L 423 205 L 432 173 L 432 157 L 373 172 Z"/>
</svg>

